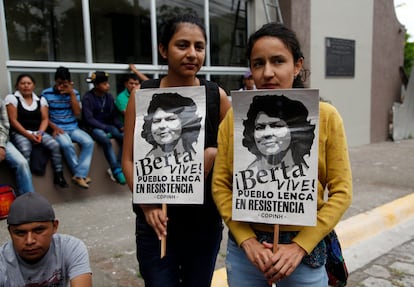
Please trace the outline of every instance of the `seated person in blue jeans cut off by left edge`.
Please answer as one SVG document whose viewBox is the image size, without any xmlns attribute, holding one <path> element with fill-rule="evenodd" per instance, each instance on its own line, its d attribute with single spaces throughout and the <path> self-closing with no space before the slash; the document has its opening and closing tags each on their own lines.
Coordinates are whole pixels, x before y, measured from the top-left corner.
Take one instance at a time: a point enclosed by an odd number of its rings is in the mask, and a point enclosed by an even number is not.
<svg viewBox="0 0 414 287">
<path fill-rule="evenodd" d="M 34 192 L 29 163 L 9 141 L 10 123 L 6 107 L 0 99 L 0 162 L 5 160 L 16 173 L 16 195 Z"/>
</svg>

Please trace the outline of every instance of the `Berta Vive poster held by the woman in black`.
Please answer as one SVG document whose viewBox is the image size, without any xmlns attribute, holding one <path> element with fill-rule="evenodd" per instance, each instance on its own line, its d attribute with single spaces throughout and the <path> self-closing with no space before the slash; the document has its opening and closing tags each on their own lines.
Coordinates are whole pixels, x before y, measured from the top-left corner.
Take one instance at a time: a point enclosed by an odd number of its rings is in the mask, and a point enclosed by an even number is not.
<svg viewBox="0 0 414 287">
<path fill-rule="evenodd" d="M 134 203 L 202 204 L 205 87 L 135 95 Z"/>
</svg>

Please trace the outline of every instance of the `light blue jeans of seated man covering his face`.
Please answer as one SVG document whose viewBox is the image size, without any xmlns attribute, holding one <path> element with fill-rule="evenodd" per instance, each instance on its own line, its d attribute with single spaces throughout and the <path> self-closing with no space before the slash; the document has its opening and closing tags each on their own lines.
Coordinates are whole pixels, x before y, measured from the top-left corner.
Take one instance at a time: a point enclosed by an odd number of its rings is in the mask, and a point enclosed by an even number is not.
<svg viewBox="0 0 414 287">
<path fill-rule="evenodd" d="M 91 166 L 94 146 L 94 141 L 90 135 L 81 129 L 75 129 L 65 131 L 65 133 L 59 134 L 55 139 L 65 155 L 66 162 L 72 174 L 76 177 L 87 177 Z M 76 153 L 72 141 L 80 145 L 79 156 Z"/>
</svg>

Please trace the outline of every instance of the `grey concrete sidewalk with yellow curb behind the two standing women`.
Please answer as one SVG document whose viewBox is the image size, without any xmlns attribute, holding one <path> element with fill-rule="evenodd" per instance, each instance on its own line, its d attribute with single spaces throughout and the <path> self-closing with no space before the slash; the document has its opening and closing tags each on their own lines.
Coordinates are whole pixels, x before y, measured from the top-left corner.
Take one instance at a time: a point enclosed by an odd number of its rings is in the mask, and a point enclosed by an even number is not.
<svg viewBox="0 0 414 287">
<path fill-rule="evenodd" d="M 380 232 L 378 227 L 386 229 L 404 220 L 414 203 L 414 140 L 353 147 L 350 158 L 354 200 L 337 227 L 344 248 Z M 135 258 L 135 216 L 126 187 L 54 206 L 60 219 L 59 231 L 83 239 L 88 246 L 94 286 L 144 286 Z M 217 269 L 224 267 L 226 235 Z M 8 239 L 3 220 L 0 243 Z"/>
</svg>

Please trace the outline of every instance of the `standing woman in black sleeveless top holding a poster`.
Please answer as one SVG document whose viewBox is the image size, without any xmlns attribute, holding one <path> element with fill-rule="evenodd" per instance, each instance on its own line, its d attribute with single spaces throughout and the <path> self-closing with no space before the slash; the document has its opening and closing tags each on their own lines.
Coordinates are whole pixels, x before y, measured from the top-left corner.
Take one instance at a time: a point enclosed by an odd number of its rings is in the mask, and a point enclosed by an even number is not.
<svg viewBox="0 0 414 287">
<path fill-rule="evenodd" d="M 218 125 L 230 108 L 224 90 L 199 79 L 205 59 L 206 32 L 194 15 L 181 15 L 162 27 L 159 52 L 168 62 L 168 73 L 144 81 L 141 89 L 180 86 L 206 87 L 204 145 L 204 204 L 169 205 L 168 218 L 160 204 L 134 204 L 137 259 L 146 286 L 209 287 L 222 238 L 222 220 L 211 196 L 212 167 L 217 153 Z M 128 103 L 122 166 L 133 190 L 135 97 Z M 167 224 L 168 222 L 168 224 Z M 168 236 L 167 236 L 168 234 Z M 160 258 L 160 240 L 167 236 L 166 256 Z"/>
</svg>

